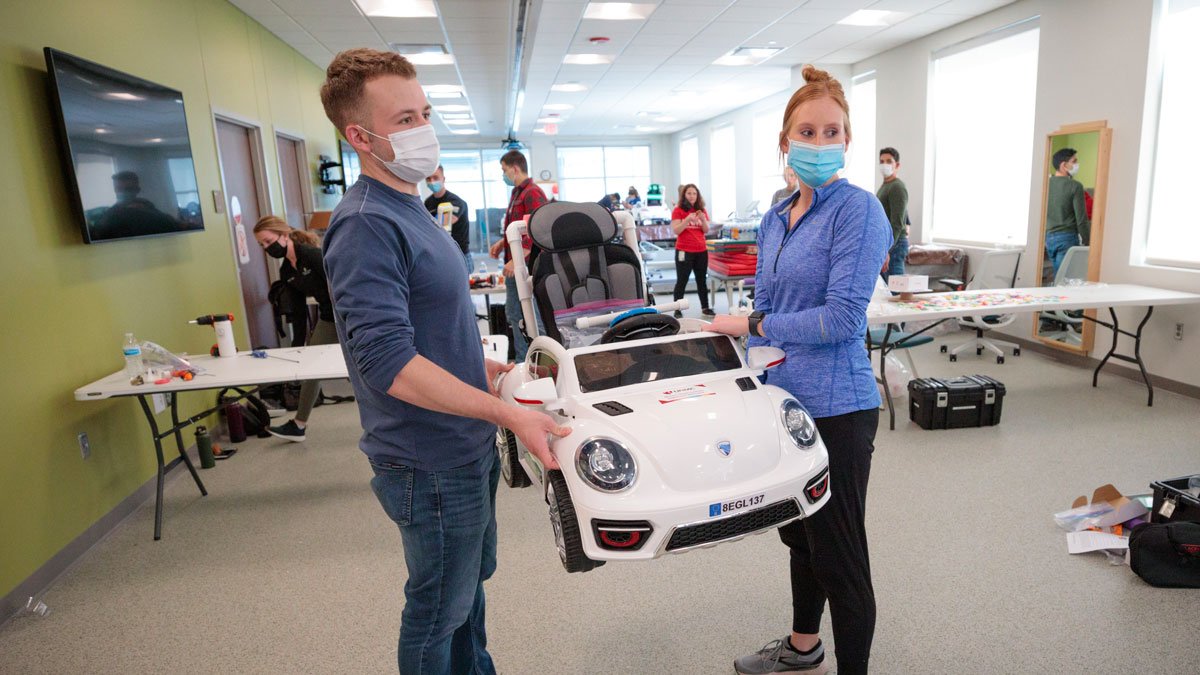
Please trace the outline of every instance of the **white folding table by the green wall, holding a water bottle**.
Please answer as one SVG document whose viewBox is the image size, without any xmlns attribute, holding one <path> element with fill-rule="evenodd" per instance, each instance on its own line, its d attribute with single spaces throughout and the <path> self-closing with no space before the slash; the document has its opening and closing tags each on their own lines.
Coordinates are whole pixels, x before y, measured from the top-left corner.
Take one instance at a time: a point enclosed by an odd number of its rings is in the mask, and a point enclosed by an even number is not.
<svg viewBox="0 0 1200 675">
<path fill-rule="evenodd" d="M 192 365 L 203 369 L 203 372 L 191 381 L 178 377 L 163 384 L 130 384 L 124 371 L 114 372 L 102 377 L 91 384 L 76 389 L 77 401 L 97 401 L 118 396 L 137 396 L 142 404 L 142 411 L 150 424 L 150 434 L 154 437 L 155 454 L 158 459 L 158 484 L 155 497 L 154 510 L 154 538 L 162 538 L 162 488 L 163 477 L 168 471 L 182 461 L 196 480 L 200 495 L 208 495 L 200 476 L 196 472 L 191 458 L 184 447 L 184 429 L 196 424 L 216 412 L 221 406 L 214 406 L 187 419 L 179 419 L 178 398 L 170 398 L 170 429 L 158 430 L 158 422 L 155 419 L 148 398 L 155 394 L 175 394 L 179 392 L 199 392 L 204 389 L 224 389 L 235 387 L 251 387 L 248 392 L 241 392 L 232 400 L 241 400 L 263 384 L 275 382 L 295 382 L 305 380 L 340 380 L 348 377 L 346 360 L 342 357 L 342 348 L 338 345 L 317 345 L 312 347 L 284 347 L 280 350 L 266 350 L 266 358 L 257 358 L 250 352 L 240 352 L 236 357 L 187 357 Z M 228 401 L 226 401 L 228 402 Z M 179 449 L 179 459 L 172 460 L 169 465 L 163 462 L 162 441 L 168 436 L 175 436 L 175 444 Z"/>
</svg>

